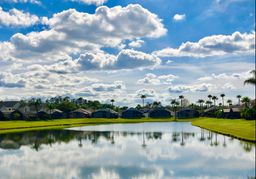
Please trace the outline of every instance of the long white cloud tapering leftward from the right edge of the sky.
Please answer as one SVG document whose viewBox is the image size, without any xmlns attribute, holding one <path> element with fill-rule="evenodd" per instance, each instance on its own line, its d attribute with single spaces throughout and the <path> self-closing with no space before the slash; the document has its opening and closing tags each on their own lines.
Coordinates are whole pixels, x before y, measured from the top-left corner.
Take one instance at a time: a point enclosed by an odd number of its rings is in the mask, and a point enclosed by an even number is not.
<svg viewBox="0 0 256 179">
<path fill-rule="evenodd" d="M 195 57 L 253 54 L 255 49 L 255 32 L 234 32 L 231 35 L 212 35 L 198 42 L 182 43 L 179 48 L 164 48 L 153 54 L 159 57 Z"/>
</svg>

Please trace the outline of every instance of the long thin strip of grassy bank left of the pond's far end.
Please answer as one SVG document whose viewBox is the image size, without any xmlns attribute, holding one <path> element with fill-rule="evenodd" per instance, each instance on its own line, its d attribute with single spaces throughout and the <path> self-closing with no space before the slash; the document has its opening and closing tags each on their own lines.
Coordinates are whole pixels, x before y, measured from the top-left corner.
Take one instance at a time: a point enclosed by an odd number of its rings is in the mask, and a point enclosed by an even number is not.
<svg viewBox="0 0 256 179">
<path fill-rule="evenodd" d="M 21 132 L 29 130 L 63 129 L 97 124 L 113 123 L 141 123 L 141 122 L 170 122 L 174 119 L 56 119 L 48 121 L 0 121 L 0 134 L 10 132 Z M 186 121 L 186 120 L 185 120 Z"/>
</svg>

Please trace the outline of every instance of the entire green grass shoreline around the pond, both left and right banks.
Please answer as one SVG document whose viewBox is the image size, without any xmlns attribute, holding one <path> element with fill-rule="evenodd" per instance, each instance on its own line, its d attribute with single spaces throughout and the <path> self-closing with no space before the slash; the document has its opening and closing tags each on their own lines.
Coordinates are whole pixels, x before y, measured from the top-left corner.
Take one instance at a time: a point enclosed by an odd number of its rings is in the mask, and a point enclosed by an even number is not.
<svg viewBox="0 0 256 179">
<path fill-rule="evenodd" d="M 255 142 L 255 120 L 244 119 L 217 119 L 217 118 L 193 118 L 193 119 L 104 119 L 104 118 L 80 118 L 80 119 L 55 119 L 47 121 L 0 121 L 0 134 L 65 129 L 71 127 L 107 125 L 107 124 L 131 124 L 144 122 L 191 122 L 191 125 L 207 129 L 212 132 L 231 136 L 240 140 Z"/>
</svg>

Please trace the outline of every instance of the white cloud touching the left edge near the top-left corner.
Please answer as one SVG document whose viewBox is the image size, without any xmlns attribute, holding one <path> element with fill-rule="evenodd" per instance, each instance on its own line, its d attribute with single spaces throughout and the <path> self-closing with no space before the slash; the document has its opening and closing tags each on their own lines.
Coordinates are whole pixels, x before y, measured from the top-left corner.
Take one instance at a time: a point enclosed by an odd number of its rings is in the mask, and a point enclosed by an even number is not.
<svg viewBox="0 0 256 179">
<path fill-rule="evenodd" d="M 29 27 L 38 23 L 39 20 L 36 15 L 32 15 L 28 12 L 23 12 L 15 8 L 4 11 L 3 8 L 0 7 L 0 25 Z"/>
</svg>

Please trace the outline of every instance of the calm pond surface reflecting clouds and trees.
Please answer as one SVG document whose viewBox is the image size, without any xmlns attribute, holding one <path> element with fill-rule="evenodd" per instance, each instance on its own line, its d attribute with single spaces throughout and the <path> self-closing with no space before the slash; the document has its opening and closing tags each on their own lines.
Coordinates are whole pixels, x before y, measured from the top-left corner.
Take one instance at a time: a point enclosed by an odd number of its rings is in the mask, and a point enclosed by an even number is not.
<svg viewBox="0 0 256 179">
<path fill-rule="evenodd" d="M 0 178 L 248 178 L 255 145 L 190 123 L 0 135 Z"/>
</svg>

